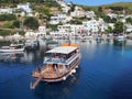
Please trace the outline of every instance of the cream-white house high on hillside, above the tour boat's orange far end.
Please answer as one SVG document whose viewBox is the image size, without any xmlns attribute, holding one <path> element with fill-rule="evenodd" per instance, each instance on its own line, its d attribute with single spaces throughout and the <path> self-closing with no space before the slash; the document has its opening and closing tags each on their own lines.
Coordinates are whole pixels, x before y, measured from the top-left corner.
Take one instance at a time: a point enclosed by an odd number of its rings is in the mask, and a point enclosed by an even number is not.
<svg viewBox="0 0 132 99">
<path fill-rule="evenodd" d="M 80 7 L 75 7 L 75 11 L 70 12 L 70 15 L 75 18 L 81 18 L 85 16 L 85 11 Z"/>
</svg>

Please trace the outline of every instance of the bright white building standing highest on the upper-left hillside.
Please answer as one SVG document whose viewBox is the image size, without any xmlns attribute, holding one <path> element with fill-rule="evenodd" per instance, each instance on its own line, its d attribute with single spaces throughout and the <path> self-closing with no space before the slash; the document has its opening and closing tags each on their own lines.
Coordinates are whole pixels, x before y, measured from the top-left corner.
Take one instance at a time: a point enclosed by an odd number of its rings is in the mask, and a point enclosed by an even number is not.
<svg viewBox="0 0 132 99">
<path fill-rule="evenodd" d="M 26 13 L 31 13 L 32 12 L 32 9 L 30 8 L 30 3 L 20 3 L 20 4 L 16 6 L 16 9 L 22 9 Z"/>
</svg>

